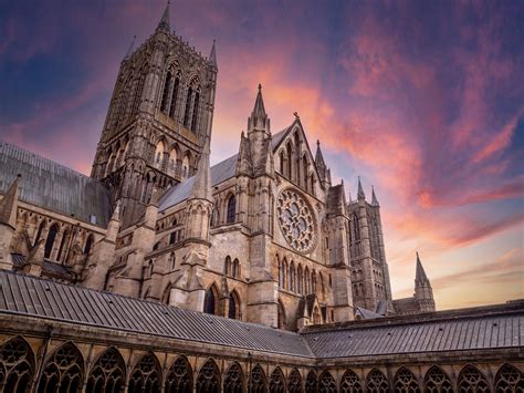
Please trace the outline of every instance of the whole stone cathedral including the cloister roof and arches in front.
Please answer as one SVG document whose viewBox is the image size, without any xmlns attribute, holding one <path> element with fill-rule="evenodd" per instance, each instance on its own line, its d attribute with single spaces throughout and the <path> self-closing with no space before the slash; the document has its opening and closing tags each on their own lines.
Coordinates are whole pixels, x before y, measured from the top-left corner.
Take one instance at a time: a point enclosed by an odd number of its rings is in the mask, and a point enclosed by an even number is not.
<svg viewBox="0 0 524 393">
<path fill-rule="evenodd" d="M 218 71 L 168 4 L 90 177 L 0 141 L 0 392 L 522 392 L 523 302 L 437 312 L 418 254 L 392 299 L 375 190 L 260 84 L 210 166 Z"/>
</svg>

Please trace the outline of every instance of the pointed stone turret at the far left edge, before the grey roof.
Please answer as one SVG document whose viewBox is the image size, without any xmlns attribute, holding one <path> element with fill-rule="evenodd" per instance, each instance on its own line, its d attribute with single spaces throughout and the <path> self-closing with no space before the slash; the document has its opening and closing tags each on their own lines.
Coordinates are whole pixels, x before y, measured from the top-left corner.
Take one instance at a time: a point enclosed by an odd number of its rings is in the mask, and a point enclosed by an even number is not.
<svg viewBox="0 0 524 393">
<path fill-rule="evenodd" d="M 11 241 L 17 226 L 18 177 L 0 200 L 0 269 L 12 269 Z"/>
</svg>

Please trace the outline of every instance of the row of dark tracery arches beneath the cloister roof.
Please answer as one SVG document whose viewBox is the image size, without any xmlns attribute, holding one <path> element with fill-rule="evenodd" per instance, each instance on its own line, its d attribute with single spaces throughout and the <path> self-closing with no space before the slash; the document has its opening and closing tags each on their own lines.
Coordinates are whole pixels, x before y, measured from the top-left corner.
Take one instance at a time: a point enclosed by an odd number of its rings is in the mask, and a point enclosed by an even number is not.
<svg viewBox="0 0 524 393">
<path fill-rule="evenodd" d="M 522 362 L 279 365 L 20 335 L 0 347 L 0 392 L 523 392 Z M 233 349 L 232 349 L 233 350 Z M 232 351 L 233 352 L 233 351 Z M 44 359 L 44 361 L 38 361 Z M 287 363 L 287 360 L 286 360 Z M 249 389 L 249 390 L 248 390 Z"/>
</svg>

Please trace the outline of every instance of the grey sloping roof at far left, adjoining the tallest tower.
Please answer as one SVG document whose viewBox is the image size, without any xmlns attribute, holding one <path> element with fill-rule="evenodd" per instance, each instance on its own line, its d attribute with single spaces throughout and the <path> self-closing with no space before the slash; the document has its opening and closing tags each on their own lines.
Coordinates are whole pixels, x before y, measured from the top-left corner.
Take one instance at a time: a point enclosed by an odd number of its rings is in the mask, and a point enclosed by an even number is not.
<svg viewBox="0 0 524 393">
<path fill-rule="evenodd" d="M 22 175 L 20 199 L 64 216 L 105 227 L 111 217 L 109 189 L 98 180 L 0 141 L 0 193 Z"/>
</svg>

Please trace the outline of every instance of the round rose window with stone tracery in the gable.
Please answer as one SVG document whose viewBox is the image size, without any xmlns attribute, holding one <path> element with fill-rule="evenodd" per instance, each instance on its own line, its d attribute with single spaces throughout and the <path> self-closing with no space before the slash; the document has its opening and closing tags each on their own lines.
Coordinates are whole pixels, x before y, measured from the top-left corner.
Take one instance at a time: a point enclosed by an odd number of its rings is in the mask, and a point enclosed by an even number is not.
<svg viewBox="0 0 524 393">
<path fill-rule="evenodd" d="M 285 240 L 300 252 L 307 252 L 315 244 L 313 210 L 305 199 L 292 189 L 279 195 L 276 213 Z"/>
</svg>

